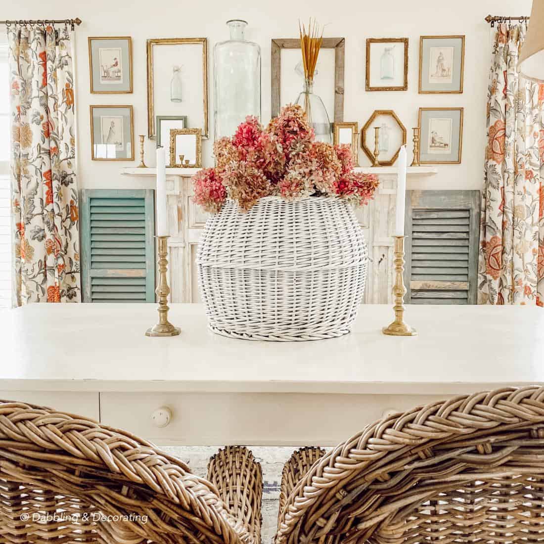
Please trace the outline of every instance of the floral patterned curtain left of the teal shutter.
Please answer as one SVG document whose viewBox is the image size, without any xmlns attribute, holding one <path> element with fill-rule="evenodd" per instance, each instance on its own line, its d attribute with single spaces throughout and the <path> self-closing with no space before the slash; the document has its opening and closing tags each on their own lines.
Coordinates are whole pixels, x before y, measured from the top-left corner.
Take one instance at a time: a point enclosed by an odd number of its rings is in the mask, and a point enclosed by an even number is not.
<svg viewBox="0 0 544 544">
<path fill-rule="evenodd" d="M 71 36 L 16 25 L 8 39 L 13 302 L 79 302 Z"/>
</svg>

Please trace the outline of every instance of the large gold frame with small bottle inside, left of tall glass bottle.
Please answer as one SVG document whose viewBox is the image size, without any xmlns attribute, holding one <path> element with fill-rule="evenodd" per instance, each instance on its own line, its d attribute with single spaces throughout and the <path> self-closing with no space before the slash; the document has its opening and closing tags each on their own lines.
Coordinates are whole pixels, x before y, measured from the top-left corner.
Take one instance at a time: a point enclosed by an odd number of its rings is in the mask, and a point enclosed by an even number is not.
<svg viewBox="0 0 544 544">
<path fill-rule="evenodd" d="M 147 40 L 147 127 L 156 138 L 156 116 L 185 116 L 208 137 L 208 40 Z"/>
</svg>

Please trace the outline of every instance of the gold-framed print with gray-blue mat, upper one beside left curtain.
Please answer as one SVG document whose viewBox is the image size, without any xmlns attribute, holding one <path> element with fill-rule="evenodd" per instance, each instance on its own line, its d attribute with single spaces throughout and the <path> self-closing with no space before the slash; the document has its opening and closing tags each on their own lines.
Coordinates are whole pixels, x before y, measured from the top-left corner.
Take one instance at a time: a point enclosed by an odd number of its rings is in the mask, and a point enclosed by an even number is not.
<svg viewBox="0 0 544 544">
<path fill-rule="evenodd" d="M 93 94 L 132 92 L 130 36 L 89 38 L 89 79 Z"/>
</svg>

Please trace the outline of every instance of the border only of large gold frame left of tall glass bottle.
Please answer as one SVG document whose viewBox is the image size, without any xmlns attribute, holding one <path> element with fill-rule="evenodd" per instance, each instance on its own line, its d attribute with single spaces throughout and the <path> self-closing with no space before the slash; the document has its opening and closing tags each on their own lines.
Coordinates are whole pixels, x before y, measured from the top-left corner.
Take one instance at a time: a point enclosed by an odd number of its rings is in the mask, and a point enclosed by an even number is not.
<svg viewBox="0 0 544 544">
<path fill-rule="evenodd" d="M 202 92 L 204 126 L 202 138 L 208 138 L 208 39 L 207 38 L 153 38 L 147 40 L 147 134 L 154 139 L 155 112 L 153 96 L 153 46 L 154 45 L 180 45 L 202 44 Z"/>
</svg>

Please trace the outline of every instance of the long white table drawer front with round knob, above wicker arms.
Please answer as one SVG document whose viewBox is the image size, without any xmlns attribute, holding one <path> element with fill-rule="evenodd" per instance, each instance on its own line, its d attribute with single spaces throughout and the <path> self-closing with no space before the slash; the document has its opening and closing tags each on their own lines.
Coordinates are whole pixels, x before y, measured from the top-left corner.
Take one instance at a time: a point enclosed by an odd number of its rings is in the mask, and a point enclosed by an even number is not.
<svg viewBox="0 0 544 544">
<path fill-rule="evenodd" d="M 297 393 L 101 393 L 102 422 L 161 446 L 335 446 L 382 417 L 443 397 Z M 153 413 L 168 407 L 158 428 Z"/>
</svg>

